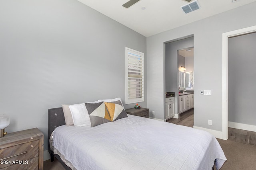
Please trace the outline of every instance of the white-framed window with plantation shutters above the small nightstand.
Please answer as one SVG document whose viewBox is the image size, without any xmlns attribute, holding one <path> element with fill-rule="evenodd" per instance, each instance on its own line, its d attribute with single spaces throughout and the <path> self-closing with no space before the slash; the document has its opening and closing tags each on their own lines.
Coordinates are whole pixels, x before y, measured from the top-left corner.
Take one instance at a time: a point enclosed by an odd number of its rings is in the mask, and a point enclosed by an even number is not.
<svg viewBox="0 0 256 170">
<path fill-rule="evenodd" d="M 125 103 L 144 102 L 144 53 L 125 48 Z"/>
</svg>

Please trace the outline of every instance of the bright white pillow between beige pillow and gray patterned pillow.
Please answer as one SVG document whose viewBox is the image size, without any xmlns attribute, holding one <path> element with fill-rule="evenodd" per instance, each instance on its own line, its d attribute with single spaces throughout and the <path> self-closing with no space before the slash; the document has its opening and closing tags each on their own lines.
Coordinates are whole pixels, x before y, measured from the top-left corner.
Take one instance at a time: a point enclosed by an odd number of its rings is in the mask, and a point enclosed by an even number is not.
<svg viewBox="0 0 256 170">
<path fill-rule="evenodd" d="M 68 106 L 74 121 L 75 127 L 91 125 L 89 113 L 85 104 L 73 104 Z"/>
</svg>

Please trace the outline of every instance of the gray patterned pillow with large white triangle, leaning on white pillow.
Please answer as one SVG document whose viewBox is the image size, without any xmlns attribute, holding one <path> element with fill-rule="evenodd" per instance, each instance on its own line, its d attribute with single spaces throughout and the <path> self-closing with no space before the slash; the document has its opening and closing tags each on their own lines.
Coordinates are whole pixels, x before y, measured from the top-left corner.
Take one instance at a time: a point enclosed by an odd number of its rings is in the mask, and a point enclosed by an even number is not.
<svg viewBox="0 0 256 170">
<path fill-rule="evenodd" d="M 89 113 L 89 117 L 91 120 L 91 127 L 111 121 L 110 115 L 108 114 L 108 111 L 104 102 L 95 103 L 95 104 L 85 103 L 85 107 Z"/>
</svg>

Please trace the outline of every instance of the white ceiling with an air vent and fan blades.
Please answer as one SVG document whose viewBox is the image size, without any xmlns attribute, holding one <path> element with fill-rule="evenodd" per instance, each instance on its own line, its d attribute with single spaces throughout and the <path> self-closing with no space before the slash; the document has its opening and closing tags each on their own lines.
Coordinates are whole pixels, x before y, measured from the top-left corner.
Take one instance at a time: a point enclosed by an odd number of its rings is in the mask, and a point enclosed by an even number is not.
<svg viewBox="0 0 256 170">
<path fill-rule="evenodd" d="M 185 14 L 180 7 L 188 3 L 183 0 L 140 0 L 130 8 L 122 6 L 128 0 L 78 1 L 146 37 L 256 2 L 256 0 L 237 0 L 234 3 L 232 0 L 198 0 L 201 8 Z M 142 10 L 142 7 L 146 9 Z"/>
</svg>

